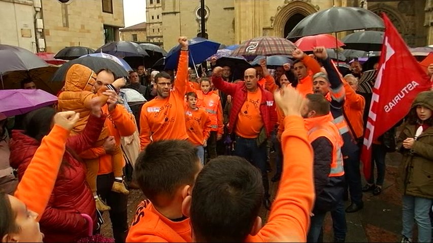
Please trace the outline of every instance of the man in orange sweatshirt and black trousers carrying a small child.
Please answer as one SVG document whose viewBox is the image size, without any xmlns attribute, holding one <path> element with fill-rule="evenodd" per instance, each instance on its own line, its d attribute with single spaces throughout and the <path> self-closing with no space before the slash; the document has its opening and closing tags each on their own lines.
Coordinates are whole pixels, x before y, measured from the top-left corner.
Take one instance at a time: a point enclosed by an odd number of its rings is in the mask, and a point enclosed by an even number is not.
<svg viewBox="0 0 433 243">
<path fill-rule="evenodd" d="M 97 93 L 102 86 L 110 85 L 114 80 L 115 76 L 110 70 L 99 71 L 96 76 L 94 92 Z M 97 194 L 102 200 L 107 201 L 107 205 L 111 207 L 109 213 L 116 242 L 124 242 L 128 233 L 128 196 L 111 190 L 114 183 L 114 174 L 110 153 L 115 146 L 120 146 L 121 137 L 134 134 L 137 126 L 134 115 L 130 114 L 122 105 L 117 104 L 118 96 L 116 92 L 112 90 L 107 90 L 107 92 L 110 93 L 110 96 L 107 104 L 102 107 L 102 111 L 108 117 L 105 120 L 105 126 L 110 137 L 106 139 L 102 147 L 91 148 L 81 153 L 80 156 L 99 160 L 99 171 L 96 178 Z M 123 165 L 125 165 L 124 161 Z"/>
</svg>

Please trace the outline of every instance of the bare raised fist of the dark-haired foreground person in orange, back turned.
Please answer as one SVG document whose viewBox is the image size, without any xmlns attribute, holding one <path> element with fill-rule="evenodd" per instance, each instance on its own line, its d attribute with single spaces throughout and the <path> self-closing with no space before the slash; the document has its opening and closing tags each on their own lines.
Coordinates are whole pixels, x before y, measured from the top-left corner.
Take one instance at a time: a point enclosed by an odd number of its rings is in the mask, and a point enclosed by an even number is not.
<svg viewBox="0 0 433 243">
<path fill-rule="evenodd" d="M 284 86 L 274 92 L 274 100 L 284 115 L 299 115 L 304 105 L 304 97 L 293 87 Z"/>
</svg>

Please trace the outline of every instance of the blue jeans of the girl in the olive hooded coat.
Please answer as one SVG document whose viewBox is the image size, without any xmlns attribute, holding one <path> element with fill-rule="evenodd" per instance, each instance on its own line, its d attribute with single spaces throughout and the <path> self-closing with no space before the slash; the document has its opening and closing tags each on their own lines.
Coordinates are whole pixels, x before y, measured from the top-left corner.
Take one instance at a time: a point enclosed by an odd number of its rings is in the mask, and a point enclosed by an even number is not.
<svg viewBox="0 0 433 243">
<path fill-rule="evenodd" d="M 402 235 L 412 238 L 414 220 L 418 226 L 418 242 L 431 242 L 431 199 L 403 196 Z"/>
</svg>

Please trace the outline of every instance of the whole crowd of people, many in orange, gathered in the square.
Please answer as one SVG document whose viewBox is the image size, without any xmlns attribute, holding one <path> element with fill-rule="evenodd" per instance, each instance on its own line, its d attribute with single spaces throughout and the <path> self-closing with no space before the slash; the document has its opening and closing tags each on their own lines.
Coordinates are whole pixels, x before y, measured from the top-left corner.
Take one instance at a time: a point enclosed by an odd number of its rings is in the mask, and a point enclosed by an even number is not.
<svg viewBox="0 0 433 243">
<path fill-rule="evenodd" d="M 15 119 L 0 113 L 2 242 L 76 242 L 90 224 L 101 230 L 105 211 L 116 242 L 323 242 L 327 213 L 334 242 L 344 242 L 346 214 L 362 210 L 363 192 L 382 192 L 394 150 L 403 154 L 402 242 L 412 242 L 414 222 L 418 241 L 431 242 L 433 91 L 418 94 L 401 127 L 374 142 L 377 178 L 362 185 L 372 98 L 358 89 L 358 61 L 343 72 L 323 47 L 295 49 L 292 65 L 271 70 L 263 59 L 233 80 L 235 70 L 215 59 L 202 75 L 189 70 L 187 38 L 178 41 L 176 70 L 140 66 L 126 83 L 74 64 L 55 107 Z M 28 81 L 23 88 L 36 88 Z M 134 112 L 122 88 L 147 102 Z M 128 222 L 128 193 L 138 188 L 145 198 Z"/>
</svg>

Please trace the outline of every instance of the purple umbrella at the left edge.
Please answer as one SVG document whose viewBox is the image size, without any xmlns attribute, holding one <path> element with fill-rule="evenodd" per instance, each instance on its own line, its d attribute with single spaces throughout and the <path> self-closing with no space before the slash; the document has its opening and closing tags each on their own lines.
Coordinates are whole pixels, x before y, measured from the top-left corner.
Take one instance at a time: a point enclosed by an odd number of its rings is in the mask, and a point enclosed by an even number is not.
<svg viewBox="0 0 433 243">
<path fill-rule="evenodd" d="M 24 114 L 56 101 L 56 96 L 43 90 L 0 90 L 0 113 L 6 116 Z"/>
</svg>

